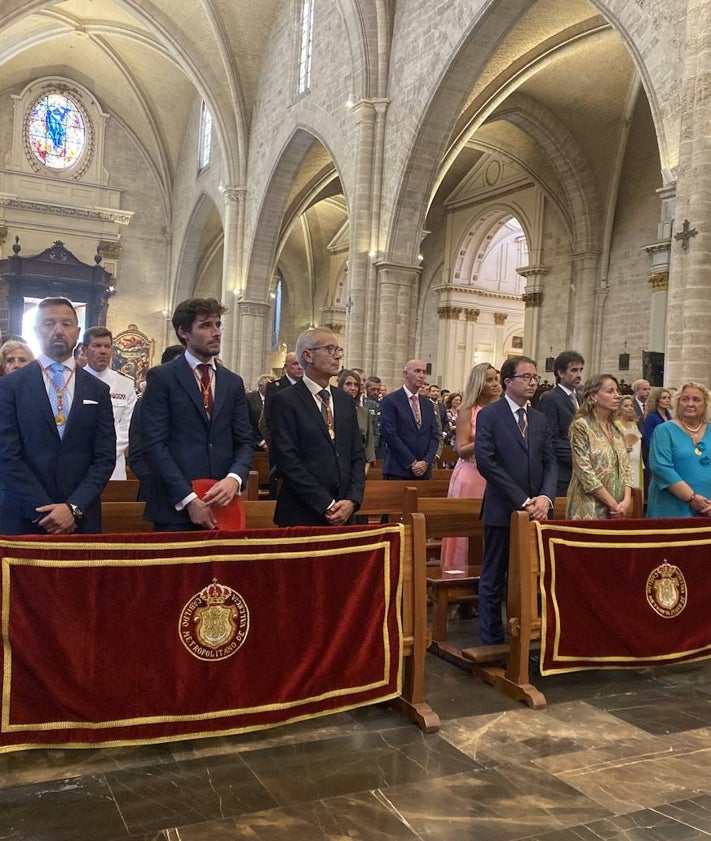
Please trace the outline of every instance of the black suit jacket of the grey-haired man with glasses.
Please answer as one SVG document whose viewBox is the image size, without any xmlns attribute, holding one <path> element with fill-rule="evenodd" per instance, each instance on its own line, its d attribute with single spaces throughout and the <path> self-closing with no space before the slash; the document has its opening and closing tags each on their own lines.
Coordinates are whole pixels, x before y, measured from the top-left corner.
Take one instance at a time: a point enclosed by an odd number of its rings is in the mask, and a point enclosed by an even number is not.
<svg viewBox="0 0 711 841">
<path fill-rule="evenodd" d="M 279 526 L 328 525 L 333 500 L 356 510 L 365 490 L 365 452 L 355 401 L 331 389 L 336 437 L 331 440 L 304 382 L 282 388 L 271 401 L 271 453 L 282 477 L 274 522 Z"/>
</svg>

